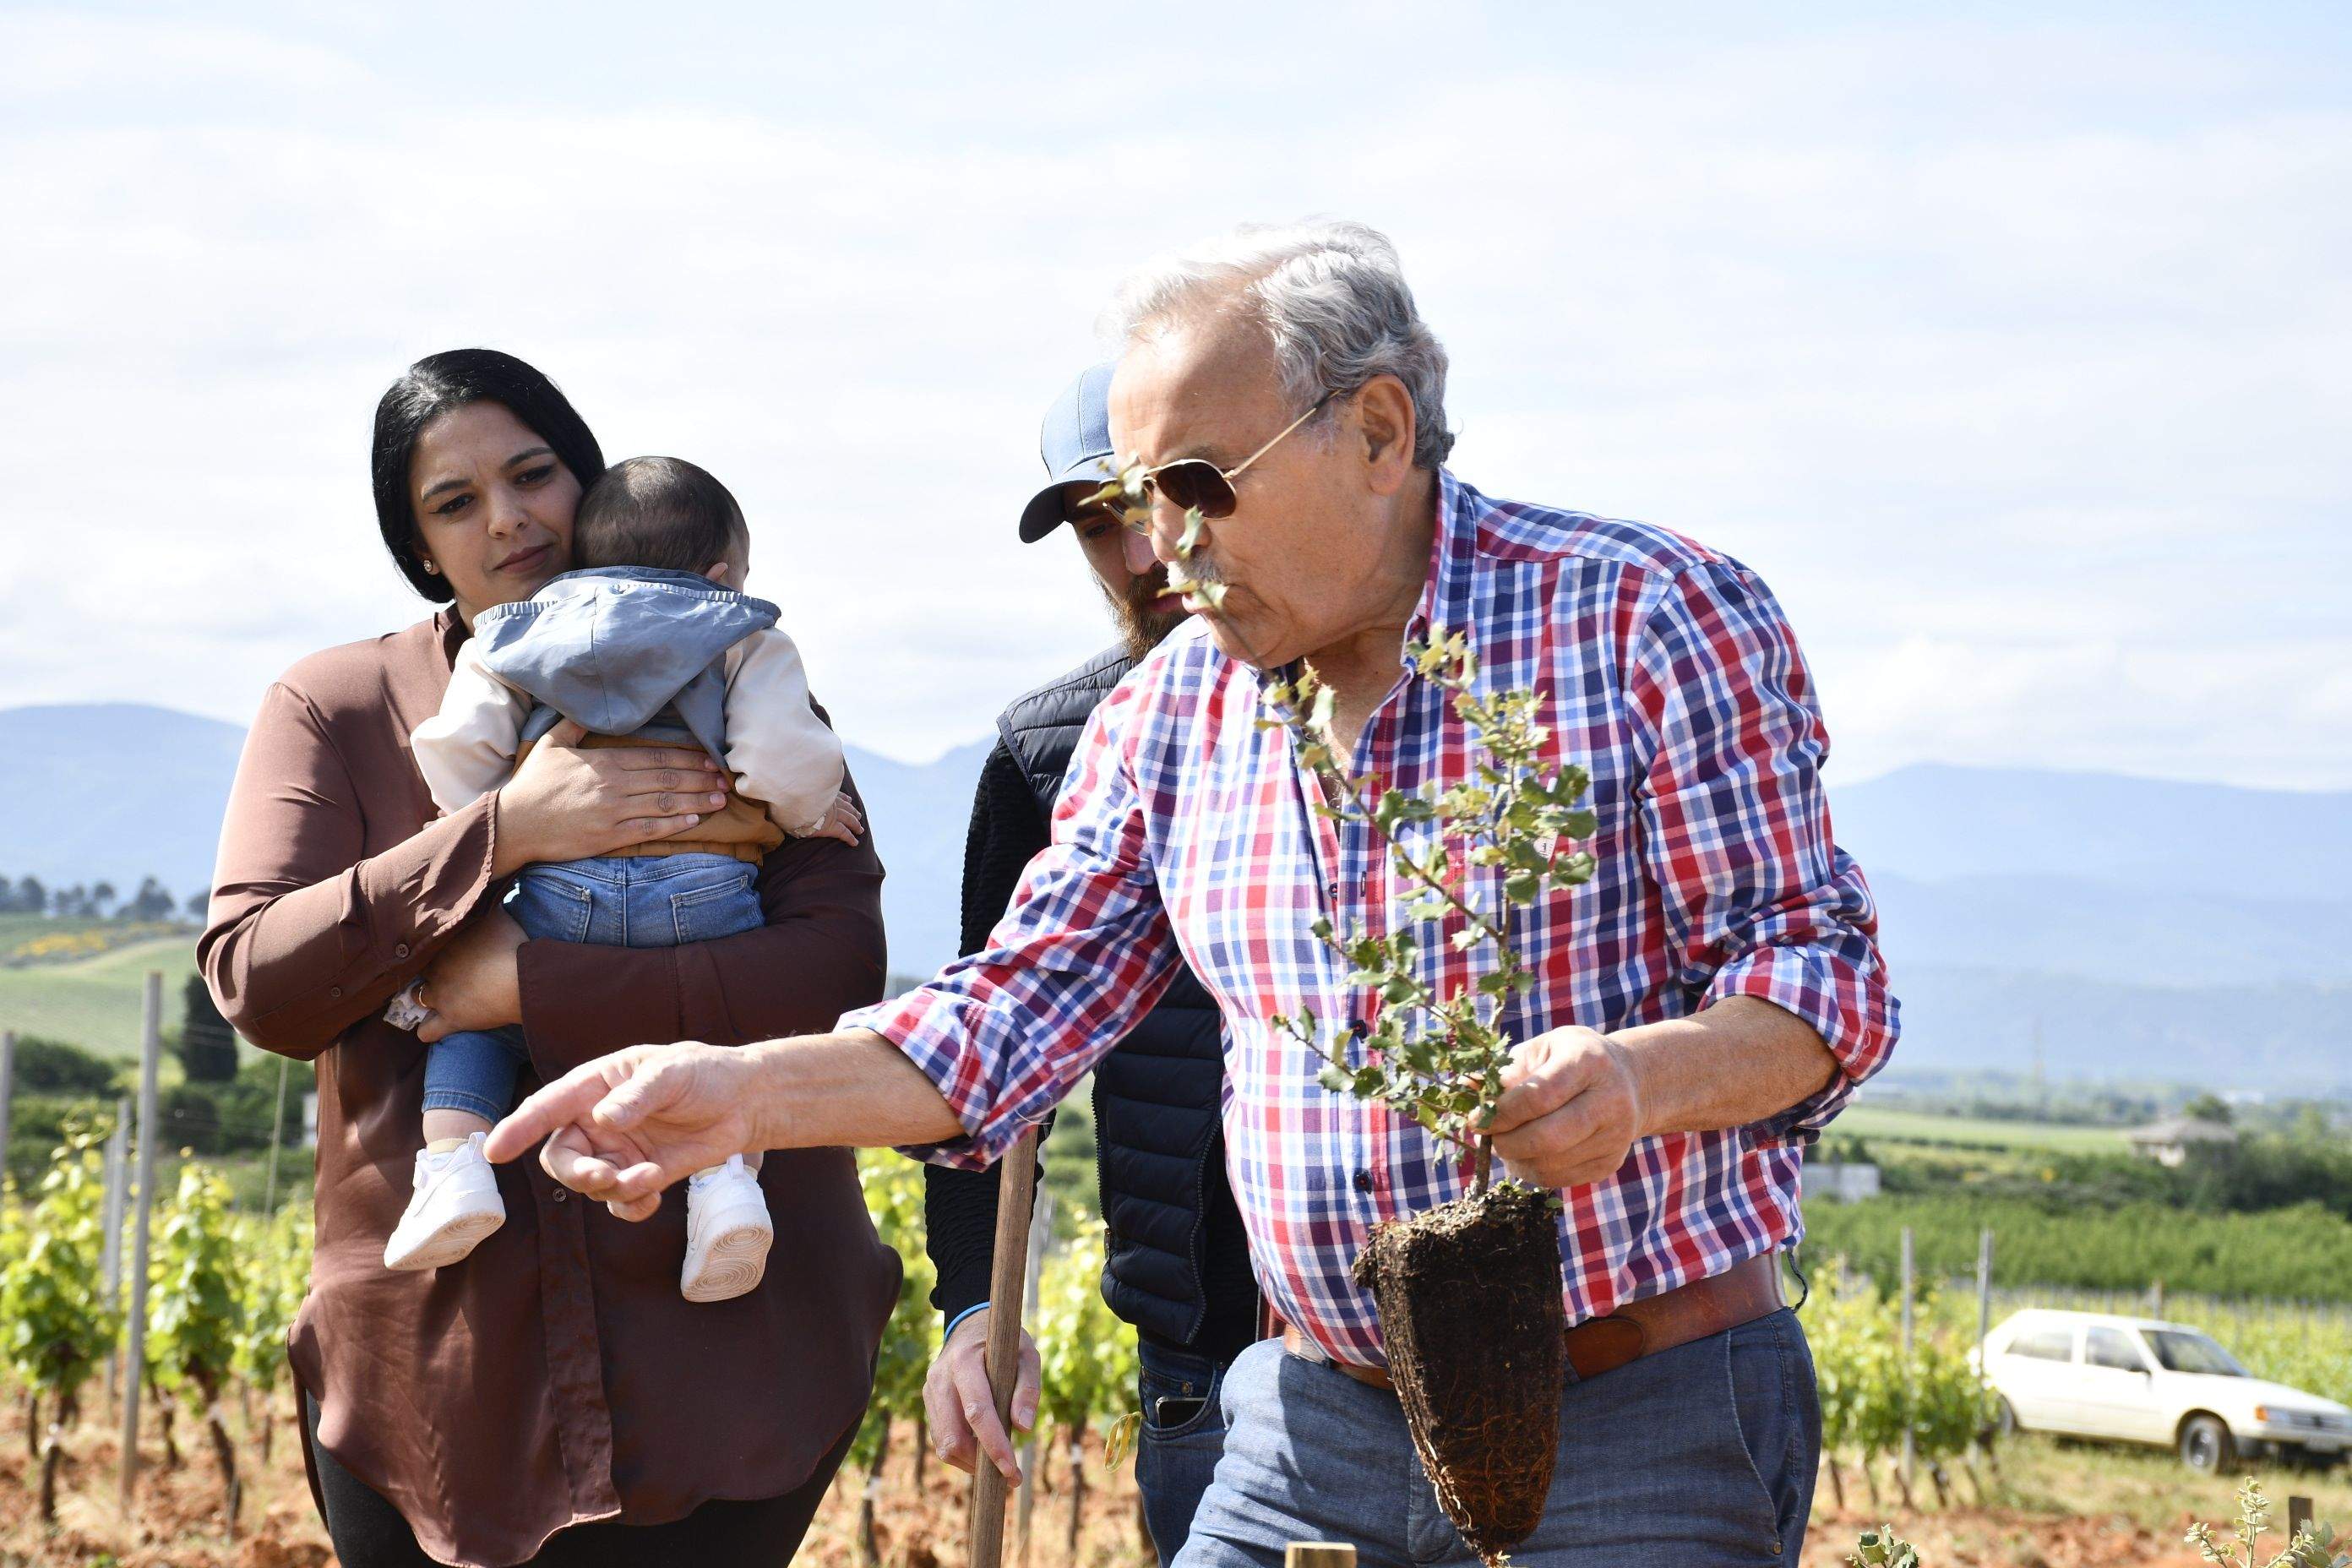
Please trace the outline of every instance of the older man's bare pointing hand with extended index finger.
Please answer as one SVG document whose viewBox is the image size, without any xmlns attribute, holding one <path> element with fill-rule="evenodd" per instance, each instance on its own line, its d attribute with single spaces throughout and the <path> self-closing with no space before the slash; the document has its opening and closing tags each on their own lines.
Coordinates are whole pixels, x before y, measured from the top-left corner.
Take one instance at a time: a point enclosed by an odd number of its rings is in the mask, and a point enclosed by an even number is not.
<svg viewBox="0 0 2352 1568">
<path fill-rule="evenodd" d="M 623 1220 L 642 1220 L 670 1182 L 769 1147 L 746 1110 L 760 1103 L 757 1077 L 753 1048 L 630 1046 L 517 1105 L 485 1152 L 508 1161 L 546 1138 L 539 1164 L 548 1175 Z"/>
</svg>

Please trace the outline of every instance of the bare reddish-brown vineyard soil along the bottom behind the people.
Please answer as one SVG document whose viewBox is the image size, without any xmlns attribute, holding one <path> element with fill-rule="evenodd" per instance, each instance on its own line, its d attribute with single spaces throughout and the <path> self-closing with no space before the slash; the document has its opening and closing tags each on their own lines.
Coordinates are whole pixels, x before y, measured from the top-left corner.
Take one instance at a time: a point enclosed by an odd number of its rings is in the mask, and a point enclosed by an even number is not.
<svg viewBox="0 0 2352 1568">
<path fill-rule="evenodd" d="M 259 1413 L 256 1413 L 259 1415 Z M 148 1410 L 141 1427 L 143 1474 L 132 1519 L 115 1509 L 115 1450 L 120 1418 L 92 1401 L 89 1415 L 66 1434 L 59 1474 L 59 1523 L 35 1516 L 40 1465 L 26 1453 L 24 1410 L 0 1413 L 0 1568 L 325 1568 L 334 1561 L 327 1535 L 310 1509 L 301 1474 L 301 1450 L 292 1429 L 278 1422 L 268 1465 L 259 1462 L 259 1425 L 230 1415 L 238 1458 L 245 1465 L 242 1530 L 226 1533 L 221 1483 L 209 1446 L 186 1418 L 174 1422 L 183 1462 L 165 1465 L 162 1434 Z M 969 1479 L 936 1460 L 915 1483 L 915 1434 L 894 1432 L 882 1479 L 873 1486 L 875 1547 L 882 1568 L 964 1568 L 964 1502 Z M 2338 1472 L 2340 1474 L 2340 1472 Z M 1990 1505 L 1955 1476 L 1947 1509 L 1893 1507 L 1891 1476 L 1882 1467 L 1886 1507 L 1872 1509 L 1851 1465 L 1844 1472 L 1849 1507 L 1830 1502 L 1820 1488 L 1804 1568 L 1842 1568 L 1853 1537 L 1893 1523 L 1919 1547 L 1929 1568 L 2194 1568 L 2197 1554 L 2180 1535 L 2192 1519 L 2220 1528 L 2230 1519 L 2234 1481 L 2199 1481 L 2166 1455 L 2025 1441 L 2009 1450 L 2002 1481 L 1990 1486 Z M 2321 1519 L 2352 1519 L 2352 1486 L 2340 1479 L 2274 1476 L 2270 1495 L 2284 1523 L 2286 1495 L 2319 1500 Z M 868 1479 L 844 1472 L 826 1497 L 800 1563 L 811 1568 L 861 1568 L 858 1516 Z M 1929 1502 L 1926 1483 L 1919 1486 Z M 1136 1512 L 1134 1467 L 1103 1472 L 1098 1443 L 1087 1448 L 1087 1490 L 1080 1507 L 1077 1552 L 1070 1540 L 1068 1458 L 1058 1443 L 1030 1500 L 1028 1552 L 1021 1549 L 1018 1500 L 1014 1505 L 1007 1563 L 1018 1568 L 1145 1568 L 1152 1556 Z M 2265 1561 L 2281 1537 L 2265 1542 Z"/>
</svg>

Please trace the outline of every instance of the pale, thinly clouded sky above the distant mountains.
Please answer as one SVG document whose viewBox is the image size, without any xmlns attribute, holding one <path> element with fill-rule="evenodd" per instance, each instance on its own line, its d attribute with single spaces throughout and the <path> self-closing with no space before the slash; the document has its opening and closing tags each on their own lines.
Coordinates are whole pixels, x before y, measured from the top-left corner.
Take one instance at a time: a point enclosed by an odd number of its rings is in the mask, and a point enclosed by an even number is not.
<svg viewBox="0 0 2352 1568">
<path fill-rule="evenodd" d="M 1117 280 L 1331 214 L 1463 480 L 1771 583 L 1832 780 L 2352 788 L 2352 9 L 804 9 L 0 7 L 0 705 L 419 618 L 369 416 L 489 343 L 929 759 L 1108 642 L 1014 520 Z"/>
</svg>

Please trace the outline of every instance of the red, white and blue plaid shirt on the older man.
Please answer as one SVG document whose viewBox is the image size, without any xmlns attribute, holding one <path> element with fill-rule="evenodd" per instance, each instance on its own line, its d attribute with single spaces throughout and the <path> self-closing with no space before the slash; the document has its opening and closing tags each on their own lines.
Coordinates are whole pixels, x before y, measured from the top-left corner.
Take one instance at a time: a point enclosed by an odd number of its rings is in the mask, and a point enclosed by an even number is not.
<svg viewBox="0 0 2352 1568">
<path fill-rule="evenodd" d="M 1512 912 L 1541 971 L 1512 1034 L 1762 997 L 1839 1065 L 1778 1117 L 1644 1138 L 1606 1180 L 1564 1190 L 1573 1324 L 1802 1237 L 1799 1147 L 1886 1063 L 1898 1013 L 1870 889 L 1830 842 L 1811 677 L 1766 588 L 1663 529 L 1489 501 L 1454 475 L 1437 505 L 1409 637 L 1465 630 L 1484 684 L 1543 691 L 1557 757 L 1592 773 L 1599 816 L 1592 882 Z M 1336 1359 L 1378 1363 L 1348 1267 L 1376 1222 L 1458 1197 L 1468 1168 L 1421 1126 L 1322 1088 L 1319 1060 L 1268 1023 L 1303 1009 L 1327 1030 L 1369 1020 L 1374 999 L 1308 926 L 1385 931 L 1404 889 L 1367 827 L 1310 811 L 1312 773 L 1261 712 L 1256 672 L 1204 625 L 1169 637 L 1096 710 L 1054 844 L 990 950 L 842 1027 L 906 1051 L 967 1128 L 908 1152 L 981 1166 L 1117 1044 L 1181 952 L 1225 1013 L 1225 1147 L 1258 1281 Z M 1458 783 L 1477 752 L 1404 665 L 1355 757 L 1376 790 L 1421 790 Z M 1498 872 L 1465 875 L 1475 903 L 1503 903 Z M 1465 983 L 1435 933 L 1421 954 L 1439 985 Z"/>
</svg>

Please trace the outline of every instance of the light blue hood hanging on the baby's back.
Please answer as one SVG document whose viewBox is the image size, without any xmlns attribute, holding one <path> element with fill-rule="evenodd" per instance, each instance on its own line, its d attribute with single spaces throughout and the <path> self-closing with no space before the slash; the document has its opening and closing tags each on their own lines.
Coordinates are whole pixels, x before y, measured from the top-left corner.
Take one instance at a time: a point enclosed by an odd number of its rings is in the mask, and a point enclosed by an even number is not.
<svg viewBox="0 0 2352 1568">
<path fill-rule="evenodd" d="M 691 571 L 567 571 L 475 616 L 482 663 L 597 736 L 644 729 L 720 654 L 776 625 L 776 607 Z"/>
</svg>

